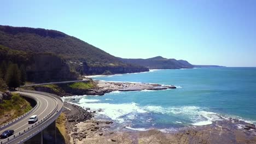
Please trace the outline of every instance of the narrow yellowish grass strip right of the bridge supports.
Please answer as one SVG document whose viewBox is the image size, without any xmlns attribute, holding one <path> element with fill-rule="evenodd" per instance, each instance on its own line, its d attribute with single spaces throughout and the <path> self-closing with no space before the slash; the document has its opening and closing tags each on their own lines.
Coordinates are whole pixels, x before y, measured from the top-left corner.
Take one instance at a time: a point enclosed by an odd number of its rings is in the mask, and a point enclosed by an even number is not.
<svg viewBox="0 0 256 144">
<path fill-rule="evenodd" d="M 61 135 L 64 137 L 65 142 L 69 143 L 68 134 L 66 130 L 66 115 L 61 113 L 61 115 L 56 119 L 56 127 L 59 129 Z"/>
</svg>

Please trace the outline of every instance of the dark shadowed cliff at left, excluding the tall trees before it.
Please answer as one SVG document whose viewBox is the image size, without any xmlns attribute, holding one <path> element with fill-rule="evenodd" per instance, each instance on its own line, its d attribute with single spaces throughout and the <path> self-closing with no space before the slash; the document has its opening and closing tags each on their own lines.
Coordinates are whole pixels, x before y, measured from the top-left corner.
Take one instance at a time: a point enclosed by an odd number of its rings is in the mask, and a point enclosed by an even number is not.
<svg viewBox="0 0 256 144">
<path fill-rule="evenodd" d="M 0 56 L 0 64 L 8 65 L 11 62 L 18 64 L 19 67 L 24 65 L 26 67 L 26 80 L 30 82 L 76 80 L 78 77 L 77 74 L 70 71 L 66 61 L 53 53 L 24 52 L 0 45 Z M 6 71 L 6 68 L 0 69 Z M 0 85 L 0 90 L 3 89 L 2 87 Z"/>
</svg>

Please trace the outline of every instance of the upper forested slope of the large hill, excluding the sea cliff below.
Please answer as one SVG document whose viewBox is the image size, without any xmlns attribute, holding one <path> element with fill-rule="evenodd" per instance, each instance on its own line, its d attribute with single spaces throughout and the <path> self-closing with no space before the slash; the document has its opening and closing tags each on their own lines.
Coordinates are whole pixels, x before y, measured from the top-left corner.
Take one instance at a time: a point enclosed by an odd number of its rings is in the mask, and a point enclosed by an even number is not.
<svg viewBox="0 0 256 144">
<path fill-rule="evenodd" d="M 71 61 L 119 64 L 118 58 L 65 33 L 28 27 L 0 26 L 0 45 L 27 52 L 53 52 Z"/>
</svg>

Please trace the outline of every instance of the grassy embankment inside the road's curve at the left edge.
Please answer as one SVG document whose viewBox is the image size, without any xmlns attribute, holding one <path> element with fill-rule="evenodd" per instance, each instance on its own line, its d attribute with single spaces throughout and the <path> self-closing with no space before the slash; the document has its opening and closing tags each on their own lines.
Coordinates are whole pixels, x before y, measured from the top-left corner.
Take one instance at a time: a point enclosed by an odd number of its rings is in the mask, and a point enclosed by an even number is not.
<svg viewBox="0 0 256 144">
<path fill-rule="evenodd" d="M 12 93 L 10 100 L 3 100 L 0 104 L 0 124 L 17 118 L 30 111 L 32 106 L 18 93 Z"/>
</svg>

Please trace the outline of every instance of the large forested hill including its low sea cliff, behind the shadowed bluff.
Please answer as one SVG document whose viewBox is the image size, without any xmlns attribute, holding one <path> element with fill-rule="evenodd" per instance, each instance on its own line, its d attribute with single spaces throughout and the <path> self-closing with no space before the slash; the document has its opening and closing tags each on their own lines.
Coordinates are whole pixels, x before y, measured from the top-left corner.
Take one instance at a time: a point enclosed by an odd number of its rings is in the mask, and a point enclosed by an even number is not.
<svg viewBox="0 0 256 144">
<path fill-rule="evenodd" d="M 71 66 L 71 69 L 79 74 L 148 71 L 148 68 L 137 64 L 123 63 L 117 57 L 95 46 L 54 30 L 0 26 L 0 45 L 26 53 L 54 53 L 64 59 Z"/>
</svg>

